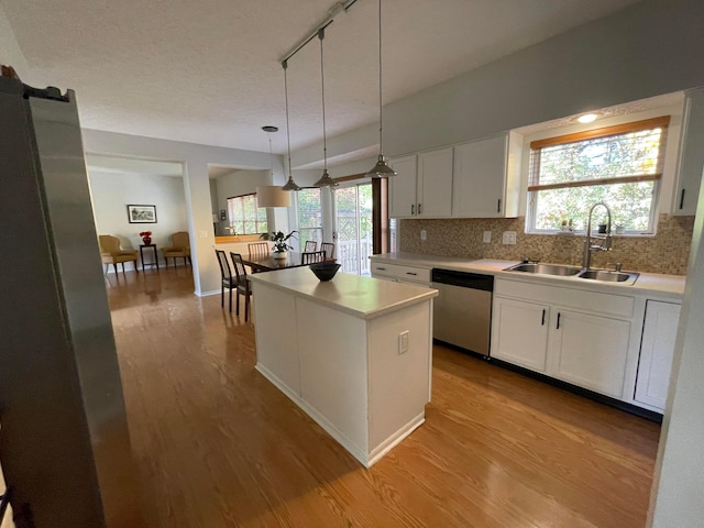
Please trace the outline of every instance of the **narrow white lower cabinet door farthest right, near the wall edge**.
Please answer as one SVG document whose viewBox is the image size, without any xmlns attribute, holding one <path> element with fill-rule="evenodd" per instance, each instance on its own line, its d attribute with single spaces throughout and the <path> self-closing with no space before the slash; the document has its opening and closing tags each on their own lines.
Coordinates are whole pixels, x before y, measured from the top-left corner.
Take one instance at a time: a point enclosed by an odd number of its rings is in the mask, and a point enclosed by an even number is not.
<svg viewBox="0 0 704 528">
<path fill-rule="evenodd" d="M 637 402 L 664 410 L 679 322 L 680 305 L 647 301 L 636 380 Z"/>
</svg>

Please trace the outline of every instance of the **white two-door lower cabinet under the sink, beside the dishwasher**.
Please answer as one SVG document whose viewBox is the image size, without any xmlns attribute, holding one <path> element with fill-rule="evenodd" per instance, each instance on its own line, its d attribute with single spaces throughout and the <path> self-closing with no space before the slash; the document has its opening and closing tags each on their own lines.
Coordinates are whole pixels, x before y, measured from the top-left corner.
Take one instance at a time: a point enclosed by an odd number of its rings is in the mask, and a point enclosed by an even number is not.
<svg viewBox="0 0 704 528">
<path fill-rule="evenodd" d="M 634 298 L 495 282 L 492 358 L 623 399 Z"/>
</svg>

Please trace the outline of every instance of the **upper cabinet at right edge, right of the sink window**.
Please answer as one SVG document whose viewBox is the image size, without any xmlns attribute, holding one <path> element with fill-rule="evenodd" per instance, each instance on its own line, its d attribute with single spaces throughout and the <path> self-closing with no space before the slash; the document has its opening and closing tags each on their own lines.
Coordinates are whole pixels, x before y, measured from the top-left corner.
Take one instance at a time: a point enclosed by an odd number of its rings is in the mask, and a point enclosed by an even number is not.
<svg viewBox="0 0 704 528">
<path fill-rule="evenodd" d="M 704 169 L 704 88 L 688 91 L 682 113 L 680 162 L 672 213 L 693 216 Z"/>
</svg>

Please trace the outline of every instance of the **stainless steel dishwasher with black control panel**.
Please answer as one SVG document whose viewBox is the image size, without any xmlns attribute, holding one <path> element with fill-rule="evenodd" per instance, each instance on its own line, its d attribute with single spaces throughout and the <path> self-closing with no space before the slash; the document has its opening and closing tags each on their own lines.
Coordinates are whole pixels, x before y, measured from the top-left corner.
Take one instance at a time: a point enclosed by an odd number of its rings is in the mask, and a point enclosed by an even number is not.
<svg viewBox="0 0 704 528">
<path fill-rule="evenodd" d="M 433 270 L 432 337 L 444 343 L 488 356 L 494 276 L 453 270 Z"/>
</svg>

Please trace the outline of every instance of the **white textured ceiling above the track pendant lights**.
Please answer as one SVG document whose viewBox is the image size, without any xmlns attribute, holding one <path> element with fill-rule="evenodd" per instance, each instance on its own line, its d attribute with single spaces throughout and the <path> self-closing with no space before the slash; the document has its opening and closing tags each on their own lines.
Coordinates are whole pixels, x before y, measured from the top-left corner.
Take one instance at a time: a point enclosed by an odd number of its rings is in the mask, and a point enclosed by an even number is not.
<svg viewBox="0 0 704 528">
<path fill-rule="evenodd" d="M 385 0 L 384 103 L 638 0 Z M 34 86 L 73 88 L 84 128 L 286 151 L 280 58 L 332 0 L 0 0 Z M 378 3 L 359 0 L 323 41 L 328 138 L 378 120 Z M 320 45 L 288 63 L 292 147 L 322 136 Z M 374 155 L 371 153 L 371 155 Z M 367 154 L 369 155 L 369 154 Z"/>
</svg>

